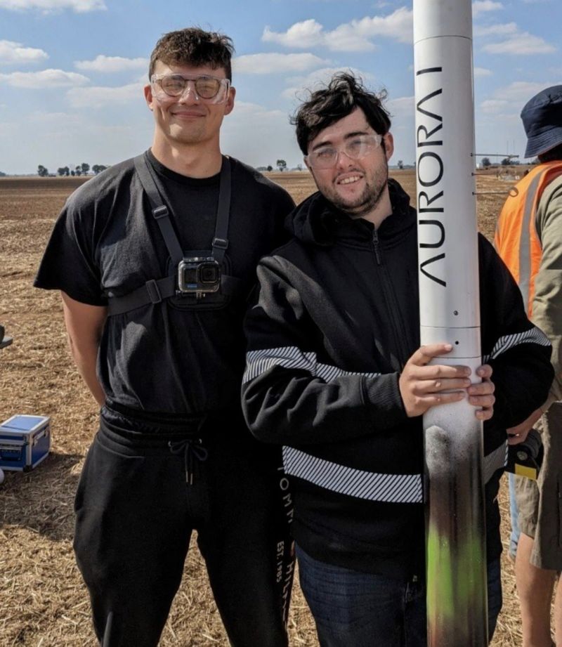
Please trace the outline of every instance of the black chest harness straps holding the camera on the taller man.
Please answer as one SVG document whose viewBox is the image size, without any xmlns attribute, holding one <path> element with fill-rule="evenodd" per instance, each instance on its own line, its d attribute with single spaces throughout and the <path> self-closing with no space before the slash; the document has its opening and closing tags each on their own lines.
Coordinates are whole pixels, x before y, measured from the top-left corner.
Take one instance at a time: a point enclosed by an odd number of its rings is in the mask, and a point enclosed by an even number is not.
<svg viewBox="0 0 562 647">
<path fill-rule="evenodd" d="M 143 189 L 148 195 L 152 217 L 158 224 L 170 255 L 171 274 L 160 279 L 151 279 L 144 285 L 123 296 L 108 296 L 107 314 L 122 315 L 149 303 L 161 303 L 164 299 L 181 294 L 178 292 L 177 268 L 183 260 L 183 250 L 172 224 L 168 207 L 164 204 L 157 188 L 152 171 L 144 155 L 134 158 L 135 169 Z M 225 252 L 228 249 L 228 218 L 230 216 L 230 192 L 232 188 L 230 159 L 223 158 L 218 188 L 218 209 L 216 213 L 215 233 L 212 242 L 211 256 L 223 266 Z M 221 292 L 233 295 L 240 287 L 240 279 L 226 274 L 221 275 Z M 186 299 L 194 299 L 192 296 Z"/>
</svg>

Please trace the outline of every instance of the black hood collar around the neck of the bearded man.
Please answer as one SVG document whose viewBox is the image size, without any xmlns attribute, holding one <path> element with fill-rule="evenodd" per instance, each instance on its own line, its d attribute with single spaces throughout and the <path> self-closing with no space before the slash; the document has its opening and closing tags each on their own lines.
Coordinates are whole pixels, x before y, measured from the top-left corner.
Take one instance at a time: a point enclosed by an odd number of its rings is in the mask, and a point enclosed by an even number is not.
<svg viewBox="0 0 562 647">
<path fill-rule="evenodd" d="M 379 238 L 394 237 L 415 222 L 408 217 L 414 212 L 410 196 L 400 184 L 389 178 L 388 191 L 392 213 L 379 226 Z M 365 218 L 351 218 L 317 191 L 287 216 L 285 228 L 304 243 L 329 246 L 341 239 L 371 240 L 374 225 Z"/>
</svg>

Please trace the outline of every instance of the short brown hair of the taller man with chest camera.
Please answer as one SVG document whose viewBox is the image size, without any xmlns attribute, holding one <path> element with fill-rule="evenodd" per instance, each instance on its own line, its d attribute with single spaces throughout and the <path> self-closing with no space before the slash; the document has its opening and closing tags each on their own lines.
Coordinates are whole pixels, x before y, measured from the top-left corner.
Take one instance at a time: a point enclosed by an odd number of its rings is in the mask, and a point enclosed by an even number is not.
<svg viewBox="0 0 562 647">
<path fill-rule="evenodd" d="M 159 39 L 150 55 L 148 78 L 154 74 L 156 61 L 161 60 L 166 65 L 209 65 L 214 70 L 223 67 L 226 78 L 232 81 L 230 61 L 233 53 L 233 41 L 225 34 L 205 32 L 200 27 L 168 32 Z"/>
</svg>

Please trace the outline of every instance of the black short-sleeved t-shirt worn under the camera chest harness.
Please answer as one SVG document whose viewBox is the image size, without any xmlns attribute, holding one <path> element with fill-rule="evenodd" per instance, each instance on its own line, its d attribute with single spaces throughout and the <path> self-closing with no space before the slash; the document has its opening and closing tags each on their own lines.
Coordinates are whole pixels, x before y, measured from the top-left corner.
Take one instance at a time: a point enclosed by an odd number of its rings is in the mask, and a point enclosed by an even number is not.
<svg viewBox="0 0 562 647">
<path fill-rule="evenodd" d="M 194 179 L 145 157 L 185 251 L 210 250 L 219 175 Z M 230 158 L 232 198 L 223 272 L 237 277 L 236 296 L 174 297 L 107 318 L 98 377 L 108 400 L 178 417 L 238 407 L 244 370 L 242 319 L 256 264 L 285 242 L 289 194 Z M 226 160 L 223 159 L 223 163 Z M 151 279 L 169 275 L 169 252 L 152 218 L 133 160 L 92 178 L 67 200 L 34 285 L 107 305 Z"/>
</svg>

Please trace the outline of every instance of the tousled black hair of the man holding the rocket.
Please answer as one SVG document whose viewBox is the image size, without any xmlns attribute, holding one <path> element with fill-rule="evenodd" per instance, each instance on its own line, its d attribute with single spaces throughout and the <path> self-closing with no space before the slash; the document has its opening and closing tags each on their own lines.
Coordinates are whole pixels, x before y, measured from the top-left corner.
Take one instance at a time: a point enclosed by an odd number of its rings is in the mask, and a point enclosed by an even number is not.
<svg viewBox="0 0 562 647">
<path fill-rule="evenodd" d="M 306 155 L 308 144 L 320 131 L 347 117 L 358 107 L 365 112 L 371 128 L 379 135 L 386 135 L 391 127 L 391 120 L 388 110 L 382 105 L 385 99 L 386 91 L 379 94 L 368 91 L 362 80 L 353 74 L 334 74 L 329 84 L 311 92 L 311 98 L 291 117 L 291 123 L 296 126 L 296 140 L 301 151 Z"/>
</svg>

